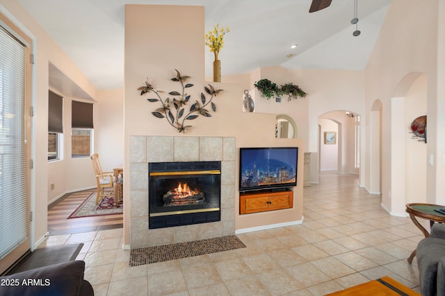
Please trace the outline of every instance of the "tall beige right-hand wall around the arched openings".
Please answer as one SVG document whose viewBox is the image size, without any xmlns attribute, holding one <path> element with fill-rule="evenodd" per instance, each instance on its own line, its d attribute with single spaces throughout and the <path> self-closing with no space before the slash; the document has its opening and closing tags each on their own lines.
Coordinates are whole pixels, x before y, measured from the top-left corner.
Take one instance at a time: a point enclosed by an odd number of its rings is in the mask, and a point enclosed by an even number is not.
<svg viewBox="0 0 445 296">
<path fill-rule="evenodd" d="M 396 0 L 391 3 L 387 18 L 382 27 L 382 31 L 375 44 L 375 48 L 366 67 L 366 89 L 365 103 L 366 116 L 375 100 L 382 102 L 382 204 L 393 214 L 404 215 L 405 196 L 403 192 L 394 192 L 395 189 L 405 190 L 405 186 L 398 186 L 395 180 L 391 180 L 391 175 L 400 168 L 405 167 L 405 158 L 392 159 L 391 155 L 397 155 L 394 147 L 391 147 L 391 140 L 397 135 L 407 132 L 406 127 L 391 133 L 391 114 L 394 103 L 392 98 L 405 96 L 410 85 L 403 85 L 404 78 L 411 73 L 426 73 L 428 76 L 428 134 L 433 134 L 428 140 L 427 153 L 434 155 L 435 159 L 442 159 L 445 155 L 444 128 L 439 124 L 438 114 L 443 114 L 444 96 L 439 96 L 439 92 L 444 92 L 444 87 L 437 83 L 437 71 L 442 71 L 443 63 L 437 62 L 438 55 L 444 55 L 437 51 L 437 44 L 444 43 L 444 37 L 438 35 L 438 12 L 442 14 L 440 21 L 444 22 L 444 2 L 443 1 L 404 1 Z M 416 21 L 412 21 L 416 19 Z M 439 69 L 437 69 L 439 67 Z M 396 92 L 398 91 L 398 92 Z M 369 119 L 364 117 L 365 147 L 372 146 L 369 135 Z M 402 138 L 405 141 L 405 137 Z M 392 153 L 394 150 L 394 153 Z M 439 153 L 439 151 L 441 153 Z M 370 153 L 373 153 L 370 151 Z M 426 159 L 423 160 L 426 162 Z M 402 162 L 402 163 L 401 163 Z M 369 159 L 364 164 L 365 187 L 371 184 L 371 171 Z M 445 175 L 444 166 L 441 163 L 428 166 L 426 170 L 426 200 L 435 202 L 436 197 L 444 195 L 444 186 L 439 180 L 443 180 Z M 442 176 L 439 178 L 439 176 Z"/>
</svg>

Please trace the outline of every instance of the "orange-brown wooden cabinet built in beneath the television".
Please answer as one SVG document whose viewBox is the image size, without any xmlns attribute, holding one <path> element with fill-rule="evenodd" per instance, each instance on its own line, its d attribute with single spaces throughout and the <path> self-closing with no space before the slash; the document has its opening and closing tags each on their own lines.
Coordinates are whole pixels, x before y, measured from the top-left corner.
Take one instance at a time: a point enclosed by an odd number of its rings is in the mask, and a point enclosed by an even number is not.
<svg viewBox="0 0 445 296">
<path fill-rule="evenodd" d="M 293 191 L 253 191 L 239 193 L 239 214 L 274 211 L 293 207 Z"/>
</svg>

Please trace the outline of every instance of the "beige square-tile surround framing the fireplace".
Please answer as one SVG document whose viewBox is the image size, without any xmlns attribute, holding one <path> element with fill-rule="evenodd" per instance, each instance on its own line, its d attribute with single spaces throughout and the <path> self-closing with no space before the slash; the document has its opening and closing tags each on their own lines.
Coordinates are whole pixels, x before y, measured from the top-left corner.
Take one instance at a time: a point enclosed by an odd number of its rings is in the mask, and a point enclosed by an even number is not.
<svg viewBox="0 0 445 296">
<path fill-rule="evenodd" d="M 235 234 L 234 137 L 130 137 L 131 248 L 182 243 Z M 148 229 L 149 162 L 221 162 L 221 220 L 218 222 Z"/>
</svg>

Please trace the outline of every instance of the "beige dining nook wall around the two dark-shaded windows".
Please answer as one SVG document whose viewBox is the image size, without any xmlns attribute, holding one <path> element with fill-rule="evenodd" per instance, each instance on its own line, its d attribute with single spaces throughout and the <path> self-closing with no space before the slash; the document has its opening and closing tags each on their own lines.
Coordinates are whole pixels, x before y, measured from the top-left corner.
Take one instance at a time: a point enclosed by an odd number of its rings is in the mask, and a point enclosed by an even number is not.
<svg viewBox="0 0 445 296">
<path fill-rule="evenodd" d="M 60 92 L 58 92 L 61 96 Z M 95 188 L 96 180 L 89 157 L 71 158 L 71 103 L 85 101 L 65 96 L 63 103 L 63 159 L 48 163 L 48 203 L 65 193 Z M 124 90 L 109 89 L 98 92 L 94 105 L 92 153 L 99 153 L 103 171 L 122 168 L 124 158 L 123 105 Z M 88 101 L 88 103 L 91 103 Z M 51 190 L 51 184 L 54 189 Z"/>
</svg>

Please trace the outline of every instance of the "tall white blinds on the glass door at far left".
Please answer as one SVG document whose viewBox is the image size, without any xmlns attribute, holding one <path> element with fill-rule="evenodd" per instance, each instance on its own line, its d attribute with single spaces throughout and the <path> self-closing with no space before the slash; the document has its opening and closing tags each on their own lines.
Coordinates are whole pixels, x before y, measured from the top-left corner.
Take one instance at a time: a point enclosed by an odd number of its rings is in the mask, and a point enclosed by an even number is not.
<svg viewBox="0 0 445 296">
<path fill-rule="evenodd" d="M 0 26 L 0 259 L 28 238 L 26 48 Z"/>
</svg>

